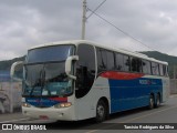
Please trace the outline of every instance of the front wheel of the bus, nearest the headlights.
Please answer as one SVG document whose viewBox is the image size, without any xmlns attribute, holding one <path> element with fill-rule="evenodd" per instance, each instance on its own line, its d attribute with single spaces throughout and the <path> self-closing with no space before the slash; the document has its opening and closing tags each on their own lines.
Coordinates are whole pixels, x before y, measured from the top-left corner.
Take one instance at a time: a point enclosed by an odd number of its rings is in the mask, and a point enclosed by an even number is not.
<svg viewBox="0 0 177 133">
<path fill-rule="evenodd" d="M 103 122 L 106 119 L 107 108 L 103 100 L 100 100 L 96 106 L 96 122 Z"/>
</svg>

